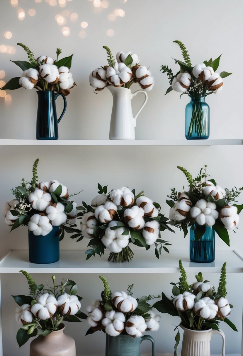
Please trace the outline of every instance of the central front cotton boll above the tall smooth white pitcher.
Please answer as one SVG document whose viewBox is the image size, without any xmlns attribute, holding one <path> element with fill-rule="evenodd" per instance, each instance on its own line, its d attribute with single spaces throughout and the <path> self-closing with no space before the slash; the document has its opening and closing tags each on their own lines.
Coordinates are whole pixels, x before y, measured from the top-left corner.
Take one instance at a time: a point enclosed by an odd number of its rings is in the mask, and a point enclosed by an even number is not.
<svg viewBox="0 0 243 356">
<path fill-rule="evenodd" d="M 106 77 L 109 84 L 114 87 L 121 87 L 131 79 L 131 69 L 126 67 L 124 63 L 115 63 L 114 68 L 107 68 Z"/>
</svg>

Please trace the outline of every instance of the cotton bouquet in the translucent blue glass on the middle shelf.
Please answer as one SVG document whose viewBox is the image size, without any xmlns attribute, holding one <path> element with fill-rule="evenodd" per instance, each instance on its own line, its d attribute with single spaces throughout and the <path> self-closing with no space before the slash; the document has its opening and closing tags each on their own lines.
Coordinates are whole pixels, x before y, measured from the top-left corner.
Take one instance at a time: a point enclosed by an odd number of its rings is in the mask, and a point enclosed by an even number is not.
<svg viewBox="0 0 243 356">
<path fill-rule="evenodd" d="M 195 224 L 194 233 L 196 241 L 205 233 L 206 226 L 212 226 L 218 236 L 229 246 L 228 230 L 233 230 L 239 223 L 239 213 L 242 205 L 233 204 L 239 197 L 243 187 L 237 189 L 223 189 L 214 179 L 207 179 L 207 165 L 201 168 L 198 176 L 192 175 L 183 167 L 177 166 L 189 183 L 187 192 L 178 193 L 171 189 L 171 195 L 166 200 L 170 206 L 169 219 L 174 225 L 187 235 L 187 227 Z"/>
</svg>

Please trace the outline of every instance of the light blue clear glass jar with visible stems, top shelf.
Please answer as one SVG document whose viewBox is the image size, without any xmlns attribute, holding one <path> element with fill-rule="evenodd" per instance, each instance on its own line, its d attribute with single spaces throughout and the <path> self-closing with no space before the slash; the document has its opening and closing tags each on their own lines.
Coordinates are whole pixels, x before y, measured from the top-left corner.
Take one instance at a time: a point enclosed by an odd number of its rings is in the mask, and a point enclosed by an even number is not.
<svg viewBox="0 0 243 356">
<path fill-rule="evenodd" d="M 205 96 L 192 98 L 186 105 L 185 136 L 187 140 L 207 140 L 210 132 L 210 107 Z"/>
</svg>

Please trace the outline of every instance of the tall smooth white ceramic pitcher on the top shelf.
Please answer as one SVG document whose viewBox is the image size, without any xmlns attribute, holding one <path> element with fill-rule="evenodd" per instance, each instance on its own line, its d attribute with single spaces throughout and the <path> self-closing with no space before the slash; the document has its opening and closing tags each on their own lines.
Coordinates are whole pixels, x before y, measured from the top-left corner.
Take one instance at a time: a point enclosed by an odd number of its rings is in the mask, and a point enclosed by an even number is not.
<svg viewBox="0 0 243 356">
<path fill-rule="evenodd" d="M 110 140 L 135 140 L 136 119 L 148 100 L 146 91 L 139 89 L 131 94 L 130 89 L 107 87 L 113 96 L 112 116 L 110 119 Z M 138 93 L 145 95 L 145 100 L 135 117 L 131 109 L 131 99 Z"/>
</svg>

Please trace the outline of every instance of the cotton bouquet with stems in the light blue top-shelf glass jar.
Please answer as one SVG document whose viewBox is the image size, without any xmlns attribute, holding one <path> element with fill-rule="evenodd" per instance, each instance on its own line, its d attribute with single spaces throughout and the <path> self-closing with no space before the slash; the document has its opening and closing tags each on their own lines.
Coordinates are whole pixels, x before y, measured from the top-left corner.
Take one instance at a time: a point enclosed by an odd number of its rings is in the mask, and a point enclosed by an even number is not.
<svg viewBox="0 0 243 356">
<path fill-rule="evenodd" d="M 221 55 L 214 60 L 210 58 L 209 61 L 204 61 L 193 67 L 188 51 L 183 43 L 177 40 L 174 42 L 180 46 L 185 62 L 175 59 L 175 62 L 179 64 L 179 72 L 175 75 L 168 66 L 161 66 L 160 70 L 162 70 L 162 73 L 167 73 L 171 84 L 165 95 L 170 91 L 175 90 L 182 93 L 181 95 L 187 94 L 193 98 L 193 112 L 188 136 L 192 136 L 193 127 L 195 127 L 198 136 L 203 136 L 203 112 L 200 99 L 212 93 L 216 94 L 218 91 L 222 90 L 223 78 L 228 77 L 228 75 L 232 73 L 221 72 L 219 74 L 216 72 Z"/>
</svg>

